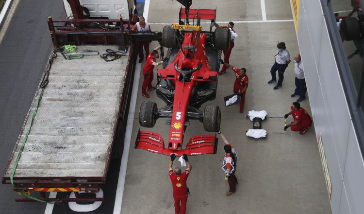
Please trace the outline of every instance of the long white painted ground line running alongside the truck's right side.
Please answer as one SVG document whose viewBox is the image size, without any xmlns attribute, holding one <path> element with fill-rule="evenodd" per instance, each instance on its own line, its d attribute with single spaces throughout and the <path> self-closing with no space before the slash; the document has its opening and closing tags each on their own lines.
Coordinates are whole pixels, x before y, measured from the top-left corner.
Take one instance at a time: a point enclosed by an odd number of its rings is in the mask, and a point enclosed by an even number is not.
<svg viewBox="0 0 364 214">
<path fill-rule="evenodd" d="M 138 60 L 139 60 L 139 56 L 136 59 L 136 61 L 138 61 Z M 138 95 L 141 68 L 142 68 L 142 64 L 141 63 L 136 63 L 135 73 L 134 73 L 134 81 L 133 81 L 133 84 L 132 84 L 132 98 L 130 100 L 128 123 L 126 125 L 126 131 L 125 131 L 124 151 L 123 151 L 123 156 L 121 157 L 119 178 L 118 178 L 117 187 L 116 187 L 114 214 L 120 214 L 121 213 L 121 204 L 123 202 L 123 195 L 124 195 L 126 167 L 128 165 L 129 149 L 130 149 L 130 143 L 131 143 L 131 140 L 132 140 L 132 126 L 133 126 L 133 123 L 134 123 L 136 96 Z"/>
</svg>

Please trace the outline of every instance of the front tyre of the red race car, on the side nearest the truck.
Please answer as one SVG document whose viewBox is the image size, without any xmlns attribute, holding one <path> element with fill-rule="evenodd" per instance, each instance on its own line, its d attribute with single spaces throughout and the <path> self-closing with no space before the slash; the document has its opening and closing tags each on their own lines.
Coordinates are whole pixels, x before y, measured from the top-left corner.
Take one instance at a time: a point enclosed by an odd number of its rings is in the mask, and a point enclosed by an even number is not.
<svg viewBox="0 0 364 214">
<path fill-rule="evenodd" d="M 143 127 L 151 128 L 157 122 L 157 104 L 150 101 L 144 101 L 140 106 L 139 124 Z"/>
</svg>

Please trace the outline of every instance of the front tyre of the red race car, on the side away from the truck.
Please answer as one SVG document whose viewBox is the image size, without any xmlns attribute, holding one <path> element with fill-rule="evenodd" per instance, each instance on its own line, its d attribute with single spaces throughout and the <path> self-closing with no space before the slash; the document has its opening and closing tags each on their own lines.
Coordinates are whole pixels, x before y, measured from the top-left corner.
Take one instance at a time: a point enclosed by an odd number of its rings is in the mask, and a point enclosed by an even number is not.
<svg viewBox="0 0 364 214">
<path fill-rule="evenodd" d="M 217 132 L 220 130 L 221 112 L 218 106 L 206 106 L 203 111 L 203 128 L 205 131 Z"/>
</svg>

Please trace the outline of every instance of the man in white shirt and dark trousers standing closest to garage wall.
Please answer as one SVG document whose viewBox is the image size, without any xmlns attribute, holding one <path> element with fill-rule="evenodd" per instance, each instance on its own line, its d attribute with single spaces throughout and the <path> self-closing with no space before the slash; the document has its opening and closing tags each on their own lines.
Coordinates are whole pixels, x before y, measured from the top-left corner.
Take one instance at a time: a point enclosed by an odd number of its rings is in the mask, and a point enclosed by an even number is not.
<svg viewBox="0 0 364 214">
<path fill-rule="evenodd" d="M 296 95 L 299 95 L 299 98 L 297 102 L 301 102 L 306 98 L 306 81 L 305 81 L 305 74 L 303 73 L 303 65 L 301 60 L 301 55 L 297 54 L 294 57 L 295 62 L 295 85 L 296 89 L 293 94 L 291 94 L 291 97 L 295 97 Z"/>
</svg>

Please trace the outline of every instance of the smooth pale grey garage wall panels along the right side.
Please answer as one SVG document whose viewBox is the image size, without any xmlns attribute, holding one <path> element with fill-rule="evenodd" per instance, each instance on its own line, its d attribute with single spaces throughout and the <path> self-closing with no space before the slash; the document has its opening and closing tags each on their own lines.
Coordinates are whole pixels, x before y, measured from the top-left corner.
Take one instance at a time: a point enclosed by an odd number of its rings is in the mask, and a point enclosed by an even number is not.
<svg viewBox="0 0 364 214">
<path fill-rule="evenodd" d="M 327 0 L 322 2 L 327 4 Z M 364 162 L 336 66 L 321 2 L 291 0 L 291 6 L 294 18 L 295 10 L 298 12 L 296 30 L 316 138 L 318 140 L 321 134 L 330 172 L 332 213 L 363 214 Z"/>
</svg>

